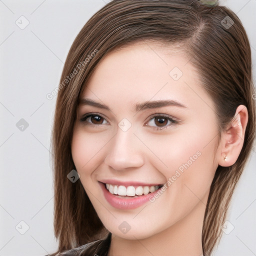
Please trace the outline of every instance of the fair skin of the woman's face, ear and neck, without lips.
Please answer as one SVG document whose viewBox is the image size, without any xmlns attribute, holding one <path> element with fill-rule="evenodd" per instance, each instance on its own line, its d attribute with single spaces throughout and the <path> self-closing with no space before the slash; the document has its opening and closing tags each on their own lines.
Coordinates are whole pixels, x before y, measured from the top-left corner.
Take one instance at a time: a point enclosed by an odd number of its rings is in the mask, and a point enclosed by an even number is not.
<svg viewBox="0 0 256 256">
<path fill-rule="evenodd" d="M 214 172 L 218 165 L 232 165 L 242 148 L 246 107 L 237 107 L 218 144 L 213 101 L 196 70 L 175 49 L 147 42 L 111 51 L 80 95 L 109 108 L 79 104 L 71 151 L 80 181 L 112 233 L 111 256 L 202 255 L 202 222 Z M 169 75 L 173 67 L 183 73 L 177 80 Z M 155 100 L 184 106 L 134 109 L 135 104 Z M 80 121 L 89 113 L 94 116 Z M 125 131 L 118 127 L 123 118 L 131 124 Z M 133 209 L 109 204 L 99 182 L 166 184 L 169 178 L 172 182 L 160 196 Z M 123 221 L 130 227 L 126 233 L 119 228 Z"/>
</svg>

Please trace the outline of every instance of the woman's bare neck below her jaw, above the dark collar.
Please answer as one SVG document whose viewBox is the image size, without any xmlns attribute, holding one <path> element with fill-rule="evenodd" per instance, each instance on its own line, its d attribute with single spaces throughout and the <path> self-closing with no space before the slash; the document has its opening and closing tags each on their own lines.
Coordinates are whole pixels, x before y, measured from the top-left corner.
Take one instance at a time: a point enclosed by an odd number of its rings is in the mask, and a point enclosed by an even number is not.
<svg viewBox="0 0 256 256">
<path fill-rule="evenodd" d="M 129 240 L 112 234 L 108 256 L 203 256 L 203 201 L 174 225 L 150 237 Z"/>
</svg>

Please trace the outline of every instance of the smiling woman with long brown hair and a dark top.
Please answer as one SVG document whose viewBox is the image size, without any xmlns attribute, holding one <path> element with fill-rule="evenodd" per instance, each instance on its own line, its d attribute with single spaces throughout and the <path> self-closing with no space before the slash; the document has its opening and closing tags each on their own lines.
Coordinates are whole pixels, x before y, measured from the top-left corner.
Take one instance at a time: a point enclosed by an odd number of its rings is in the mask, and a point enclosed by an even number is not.
<svg viewBox="0 0 256 256">
<path fill-rule="evenodd" d="M 246 32 L 217 1 L 106 4 L 60 79 L 54 255 L 210 255 L 253 146 L 253 93 Z"/>
</svg>

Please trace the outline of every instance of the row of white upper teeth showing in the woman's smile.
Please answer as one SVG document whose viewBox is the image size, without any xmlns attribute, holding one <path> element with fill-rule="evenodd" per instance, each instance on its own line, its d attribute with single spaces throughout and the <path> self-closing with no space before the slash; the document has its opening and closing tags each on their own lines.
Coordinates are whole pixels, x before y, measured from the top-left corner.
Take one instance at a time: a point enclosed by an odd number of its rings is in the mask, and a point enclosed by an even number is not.
<svg viewBox="0 0 256 256">
<path fill-rule="evenodd" d="M 128 195 L 128 196 L 134 196 L 134 195 L 142 195 L 142 194 L 148 194 L 152 193 L 155 190 L 157 190 L 160 186 L 137 186 L 136 188 L 134 186 L 127 186 L 127 188 L 123 185 L 112 185 L 112 184 L 106 184 L 106 189 L 111 194 L 118 194 L 118 195 Z"/>
</svg>

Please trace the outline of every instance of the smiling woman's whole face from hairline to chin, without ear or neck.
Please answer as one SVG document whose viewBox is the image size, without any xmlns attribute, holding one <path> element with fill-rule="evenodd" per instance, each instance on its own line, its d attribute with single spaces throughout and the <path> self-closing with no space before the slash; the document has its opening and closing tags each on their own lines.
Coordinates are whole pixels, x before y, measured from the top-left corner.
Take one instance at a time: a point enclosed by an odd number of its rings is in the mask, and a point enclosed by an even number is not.
<svg viewBox="0 0 256 256">
<path fill-rule="evenodd" d="M 196 70 L 177 48 L 147 42 L 101 60 L 80 95 L 71 151 L 104 226 L 142 239 L 202 225 L 217 143 Z"/>
</svg>

